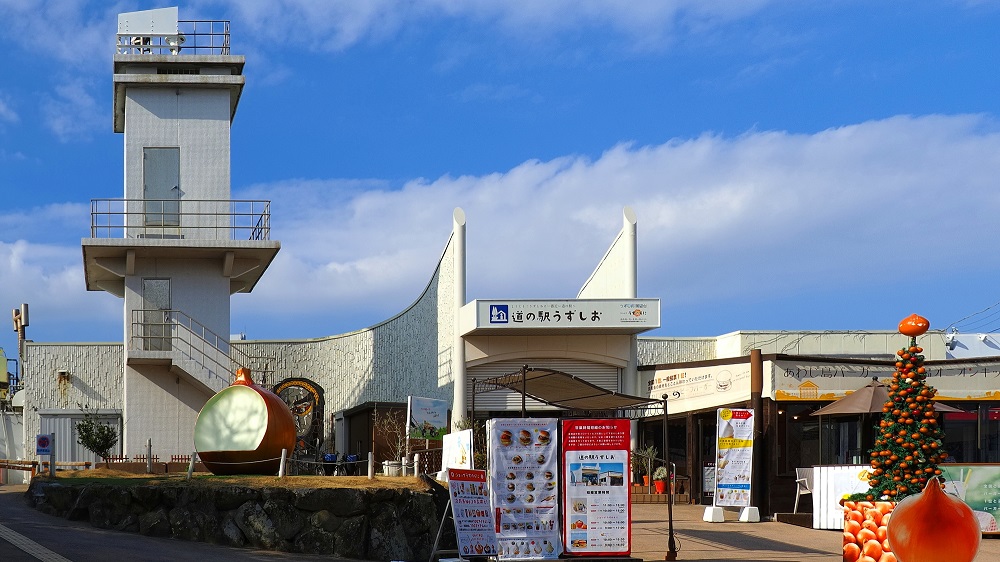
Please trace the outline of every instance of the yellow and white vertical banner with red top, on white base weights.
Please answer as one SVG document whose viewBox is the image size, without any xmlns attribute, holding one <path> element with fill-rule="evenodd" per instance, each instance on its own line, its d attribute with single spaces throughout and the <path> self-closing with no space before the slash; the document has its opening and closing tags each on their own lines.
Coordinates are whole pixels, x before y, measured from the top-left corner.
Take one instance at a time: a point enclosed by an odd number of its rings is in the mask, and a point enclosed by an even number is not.
<svg viewBox="0 0 1000 562">
<path fill-rule="evenodd" d="M 749 507 L 753 467 L 753 410 L 720 408 L 716 425 L 717 506 Z"/>
</svg>

